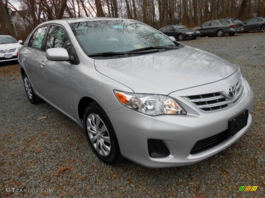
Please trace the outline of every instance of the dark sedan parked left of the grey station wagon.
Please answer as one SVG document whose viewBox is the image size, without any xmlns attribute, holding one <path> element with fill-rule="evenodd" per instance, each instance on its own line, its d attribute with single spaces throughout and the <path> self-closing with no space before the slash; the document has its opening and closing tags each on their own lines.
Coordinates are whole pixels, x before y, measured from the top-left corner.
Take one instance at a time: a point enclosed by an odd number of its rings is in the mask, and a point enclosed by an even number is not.
<svg viewBox="0 0 265 198">
<path fill-rule="evenodd" d="M 183 25 L 168 25 L 162 27 L 159 31 L 167 36 L 174 36 L 179 41 L 183 41 L 184 39 L 196 39 L 200 36 L 200 31 L 189 30 Z"/>
</svg>

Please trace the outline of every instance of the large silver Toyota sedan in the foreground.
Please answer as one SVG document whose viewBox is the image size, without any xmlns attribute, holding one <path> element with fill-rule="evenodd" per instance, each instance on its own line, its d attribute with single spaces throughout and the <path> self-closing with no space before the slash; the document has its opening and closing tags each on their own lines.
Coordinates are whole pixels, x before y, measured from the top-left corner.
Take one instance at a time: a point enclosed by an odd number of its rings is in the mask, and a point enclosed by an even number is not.
<svg viewBox="0 0 265 198">
<path fill-rule="evenodd" d="M 249 128 L 253 92 L 240 67 L 144 23 L 76 18 L 42 23 L 19 50 L 28 99 L 85 129 L 108 164 L 199 162 Z"/>
</svg>

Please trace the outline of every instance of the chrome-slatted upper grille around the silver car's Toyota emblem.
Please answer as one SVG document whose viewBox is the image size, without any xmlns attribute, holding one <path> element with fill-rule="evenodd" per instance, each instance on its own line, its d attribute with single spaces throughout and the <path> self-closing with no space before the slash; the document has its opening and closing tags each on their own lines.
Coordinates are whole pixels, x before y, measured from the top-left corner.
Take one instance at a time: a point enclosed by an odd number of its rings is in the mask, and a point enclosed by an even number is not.
<svg viewBox="0 0 265 198">
<path fill-rule="evenodd" d="M 189 100 L 201 111 L 210 112 L 219 109 L 224 109 L 235 104 L 241 97 L 243 89 L 244 87 L 242 86 L 242 81 L 240 79 L 240 81 L 238 81 L 236 84 L 237 94 L 235 98 L 227 98 L 219 92 L 187 96 L 184 98 Z"/>
</svg>

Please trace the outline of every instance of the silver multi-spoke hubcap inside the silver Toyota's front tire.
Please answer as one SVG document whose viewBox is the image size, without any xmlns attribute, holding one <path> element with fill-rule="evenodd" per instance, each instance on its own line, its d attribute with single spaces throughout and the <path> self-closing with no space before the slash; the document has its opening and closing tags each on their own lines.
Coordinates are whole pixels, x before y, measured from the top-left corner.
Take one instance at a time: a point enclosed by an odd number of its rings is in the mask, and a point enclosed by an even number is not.
<svg viewBox="0 0 265 198">
<path fill-rule="evenodd" d="M 87 133 L 95 150 L 101 156 L 108 156 L 111 152 L 111 139 L 108 130 L 96 114 L 89 114 L 86 120 Z"/>
</svg>

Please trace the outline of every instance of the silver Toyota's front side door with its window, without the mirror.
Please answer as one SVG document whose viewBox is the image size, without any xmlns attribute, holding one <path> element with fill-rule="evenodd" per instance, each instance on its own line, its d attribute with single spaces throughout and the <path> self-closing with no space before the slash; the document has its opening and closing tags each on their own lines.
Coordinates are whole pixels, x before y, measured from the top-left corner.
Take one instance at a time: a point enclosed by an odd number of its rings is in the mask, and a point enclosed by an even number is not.
<svg viewBox="0 0 265 198">
<path fill-rule="evenodd" d="M 74 48 L 63 26 L 51 25 L 47 31 L 45 50 L 65 48 L 69 56 Z M 40 87 L 42 95 L 72 117 L 75 117 L 73 105 L 73 83 L 70 61 L 50 61 L 42 57 L 40 68 Z"/>
</svg>

